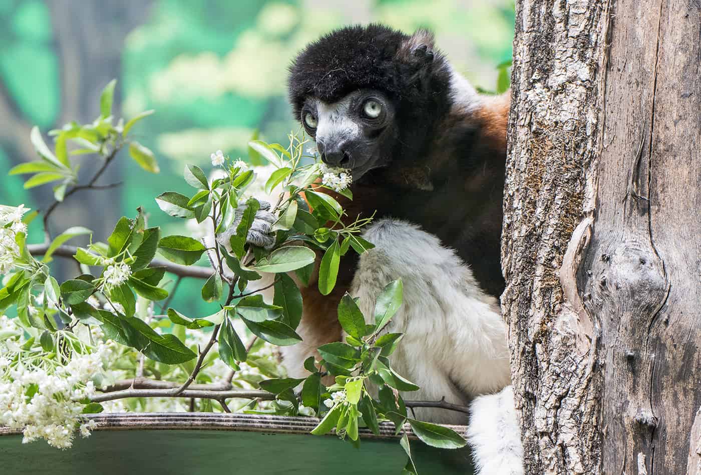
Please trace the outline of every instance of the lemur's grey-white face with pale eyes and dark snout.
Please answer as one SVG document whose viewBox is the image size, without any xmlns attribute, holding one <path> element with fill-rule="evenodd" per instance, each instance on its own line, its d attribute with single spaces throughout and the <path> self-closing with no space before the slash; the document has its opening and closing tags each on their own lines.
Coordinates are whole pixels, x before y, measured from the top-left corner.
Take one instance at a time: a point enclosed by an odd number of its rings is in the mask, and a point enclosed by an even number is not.
<svg viewBox="0 0 701 475">
<path fill-rule="evenodd" d="M 395 109 L 379 90 L 354 91 L 333 104 L 309 98 L 299 120 L 316 140 L 322 161 L 351 169 L 354 180 L 389 163 Z"/>
</svg>

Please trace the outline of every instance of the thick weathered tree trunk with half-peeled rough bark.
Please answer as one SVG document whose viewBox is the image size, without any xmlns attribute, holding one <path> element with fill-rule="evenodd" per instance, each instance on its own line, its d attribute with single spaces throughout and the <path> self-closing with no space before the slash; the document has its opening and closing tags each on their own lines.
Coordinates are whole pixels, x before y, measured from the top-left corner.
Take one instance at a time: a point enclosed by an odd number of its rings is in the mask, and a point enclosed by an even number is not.
<svg viewBox="0 0 701 475">
<path fill-rule="evenodd" d="M 697 0 L 517 1 L 502 305 L 527 474 L 701 473 L 700 39 Z"/>
</svg>

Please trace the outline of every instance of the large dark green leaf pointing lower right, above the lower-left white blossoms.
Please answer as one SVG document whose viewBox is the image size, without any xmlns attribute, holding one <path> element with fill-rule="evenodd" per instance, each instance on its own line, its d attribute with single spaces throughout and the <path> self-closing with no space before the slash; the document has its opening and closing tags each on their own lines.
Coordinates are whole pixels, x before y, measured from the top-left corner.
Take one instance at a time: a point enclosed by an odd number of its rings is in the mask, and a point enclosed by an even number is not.
<svg viewBox="0 0 701 475">
<path fill-rule="evenodd" d="M 151 360 L 165 364 L 179 364 L 196 357 L 195 353 L 175 335 L 158 334 L 138 318 L 125 318 L 122 322 L 126 325 L 125 332 L 130 339 L 130 345 Z"/>
</svg>

